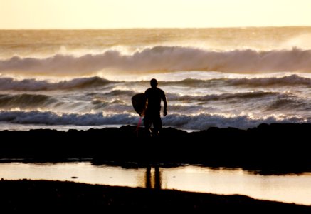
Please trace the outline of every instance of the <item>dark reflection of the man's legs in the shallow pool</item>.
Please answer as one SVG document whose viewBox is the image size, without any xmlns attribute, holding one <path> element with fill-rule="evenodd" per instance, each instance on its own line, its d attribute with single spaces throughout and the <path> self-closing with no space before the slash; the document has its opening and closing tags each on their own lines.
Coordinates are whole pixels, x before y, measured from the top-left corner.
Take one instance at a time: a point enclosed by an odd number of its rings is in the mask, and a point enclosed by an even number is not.
<svg viewBox="0 0 311 214">
<path fill-rule="evenodd" d="M 154 188 L 156 190 L 161 189 L 162 178 L 158 165 L 154 165 L 154 170 L 152 171 L 152 166 L 148 165 L 146 170 L 146 175 L 144 178 L 145 187 L 148 189 Z"/>
</svg>

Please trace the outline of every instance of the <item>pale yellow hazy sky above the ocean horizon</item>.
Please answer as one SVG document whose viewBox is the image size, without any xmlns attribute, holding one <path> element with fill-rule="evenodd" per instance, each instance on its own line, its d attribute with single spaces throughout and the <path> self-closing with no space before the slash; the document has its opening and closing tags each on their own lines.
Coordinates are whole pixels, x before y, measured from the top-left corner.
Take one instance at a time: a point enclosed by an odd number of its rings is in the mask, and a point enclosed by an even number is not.
<svg viewBox="0 0 311 214">
<path fill-rule="evenodd" d="M 0 0 L 0 29 L 311 26 L 311 0 Z"/>
</svg>

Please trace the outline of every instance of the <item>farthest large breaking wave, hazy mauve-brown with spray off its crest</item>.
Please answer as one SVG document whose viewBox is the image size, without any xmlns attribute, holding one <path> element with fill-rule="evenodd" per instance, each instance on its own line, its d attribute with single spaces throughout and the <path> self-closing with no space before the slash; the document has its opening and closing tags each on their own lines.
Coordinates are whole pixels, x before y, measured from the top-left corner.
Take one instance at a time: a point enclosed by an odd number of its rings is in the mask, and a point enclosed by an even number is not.
<svg viewBox="0 0 311 214">
<path fill-rule="evenodd" d="M 154 46 L 122 54 L 109 50 L 102 54 L 72 56 L 56 54 L 48 58 L 14 56 L 0 60 L 0 72 L 38 75 L 92 75 L 98 71 L 135 73 L 167 71 L 277 72 L 311 71 L 311 50 L 298 48 L 271 51 L 236 49 L 213 51 L 184 46 Z"/>
</svg>

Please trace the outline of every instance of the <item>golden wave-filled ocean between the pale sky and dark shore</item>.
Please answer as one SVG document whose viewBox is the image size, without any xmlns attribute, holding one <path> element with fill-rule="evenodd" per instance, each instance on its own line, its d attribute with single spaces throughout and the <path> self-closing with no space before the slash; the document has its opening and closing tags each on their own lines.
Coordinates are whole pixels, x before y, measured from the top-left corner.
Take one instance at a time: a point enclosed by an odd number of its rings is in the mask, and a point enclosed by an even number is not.
<svg viewBox="0 0 311 214">
<path fill-rule="evenodd" d="M 164 127 L 310 123 L 311 27 L 1 30 L 0 130 L 137 126 L 151 78 Z"/>
</svg>

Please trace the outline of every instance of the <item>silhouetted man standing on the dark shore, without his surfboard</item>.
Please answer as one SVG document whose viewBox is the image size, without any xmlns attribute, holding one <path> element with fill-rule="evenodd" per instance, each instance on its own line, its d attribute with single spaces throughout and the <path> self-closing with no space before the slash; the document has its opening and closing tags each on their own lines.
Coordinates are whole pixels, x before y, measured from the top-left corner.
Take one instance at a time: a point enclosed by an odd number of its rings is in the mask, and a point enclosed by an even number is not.
<svg viewBox="0 0 311 214">
<path fill-rule="evenodd" d="M 159 136 L 162 130 L 162 120 L 160 116 L 161 100 L 164 103 L 164 116 L 167 116 L 167 96 L 162 89 L 157 88 L 157 80 L 152 78 L 150 81 L 151 88 L 148 88 L 144 95 L 147 98 L 147 109 L 144 113 L 144 127 L 151 133 L 151 125 L 153 124 L 154 131 L 152 136 Z"/>
</svg>

